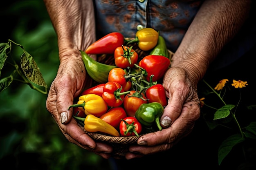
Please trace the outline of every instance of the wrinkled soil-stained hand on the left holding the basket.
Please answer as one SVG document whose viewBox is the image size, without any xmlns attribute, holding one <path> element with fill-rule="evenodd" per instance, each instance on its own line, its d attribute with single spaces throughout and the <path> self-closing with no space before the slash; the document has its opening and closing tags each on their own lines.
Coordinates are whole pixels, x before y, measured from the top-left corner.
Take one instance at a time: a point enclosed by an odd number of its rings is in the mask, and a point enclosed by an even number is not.
<svg viewBox="0 0 256 170">
<path fill-rule="evenodd" d="M 73 98 L 77 97 L 85 84 L 90 81 L 85 81 L 85 67 L 79 50 L 65 52 L 65 55 L 61 56 L 58 73 L 49 89 L 47 110 L 52 114 L 68 141 L 107 159 L 111 156 L 112 147 L 95 142 L 86 135 L 72 117 L 73 108 L 67 110 L 73 104 Z"/>
</svg>

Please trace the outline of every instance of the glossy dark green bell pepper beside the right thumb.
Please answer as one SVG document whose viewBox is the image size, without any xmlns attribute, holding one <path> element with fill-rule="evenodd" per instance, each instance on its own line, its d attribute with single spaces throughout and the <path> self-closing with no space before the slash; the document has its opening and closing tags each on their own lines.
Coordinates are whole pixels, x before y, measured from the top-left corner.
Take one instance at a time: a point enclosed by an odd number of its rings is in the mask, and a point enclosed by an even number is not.
<svg viewBox="0 0 256 170">
<path fill-rule="evenodd" d="M 135 112 L 135 117 L 138 121 L 146 126 L 150 127 L 155 122 L 159 130 L 162 130 L 160 125 L 160 117 L 164 113 L 164 107 L 158 102 L 141 104 Z"/>
</svg>

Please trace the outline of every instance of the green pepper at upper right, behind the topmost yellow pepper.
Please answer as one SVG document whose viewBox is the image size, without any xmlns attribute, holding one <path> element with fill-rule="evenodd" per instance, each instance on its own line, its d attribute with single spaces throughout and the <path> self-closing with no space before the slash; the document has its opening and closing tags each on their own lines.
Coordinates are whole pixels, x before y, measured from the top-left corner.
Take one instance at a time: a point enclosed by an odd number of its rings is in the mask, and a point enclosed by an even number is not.
<svg viewBox="0 0 256 170">
<path fill-rule="evenodd" d="M 164 57 L 169 58 L 169 53 L 166 47 L 165 40 L 162 36 L 158 36 L 157 46 L 150 51 L 150 55 L 163 55 Z"/>
</svg>

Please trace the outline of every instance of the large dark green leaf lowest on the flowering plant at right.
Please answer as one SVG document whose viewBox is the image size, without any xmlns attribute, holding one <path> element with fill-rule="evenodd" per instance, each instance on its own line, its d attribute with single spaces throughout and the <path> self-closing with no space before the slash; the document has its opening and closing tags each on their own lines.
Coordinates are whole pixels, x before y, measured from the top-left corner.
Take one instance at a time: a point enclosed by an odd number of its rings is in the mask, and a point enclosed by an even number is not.
<svg viewBox="0 0 256 170">
<path fill-rule="evenodd" d="M 227 139 L 225 139 L 222 144 L 219 147 L 218 150 L 218 162 L 219 165 L 222 162 L 222 160 L 229 154 L 229 152 L 232 150 L 232 148 L 244 141 L 245 139 L 241 137 L 240 134 L 231 135 Z"/>
</svg>

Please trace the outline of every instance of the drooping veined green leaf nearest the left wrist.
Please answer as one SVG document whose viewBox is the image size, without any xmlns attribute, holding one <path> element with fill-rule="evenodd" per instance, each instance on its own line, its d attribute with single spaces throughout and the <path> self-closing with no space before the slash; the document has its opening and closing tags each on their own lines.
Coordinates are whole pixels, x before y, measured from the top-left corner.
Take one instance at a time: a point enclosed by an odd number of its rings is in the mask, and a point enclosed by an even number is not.
<svg viewBox="0 0 256 170">
<path fill-rule="evenodd" d="M 29 79 L 34 84 L 39 86 L 47 87 L 43 76 L 34 61 L 33 57 L 27 53 L 27 51 L 23 50 L 24 53 L 20 57 L 20 64 L 23 72 L 25 73 L 27 79 Z"/>
</svg>

